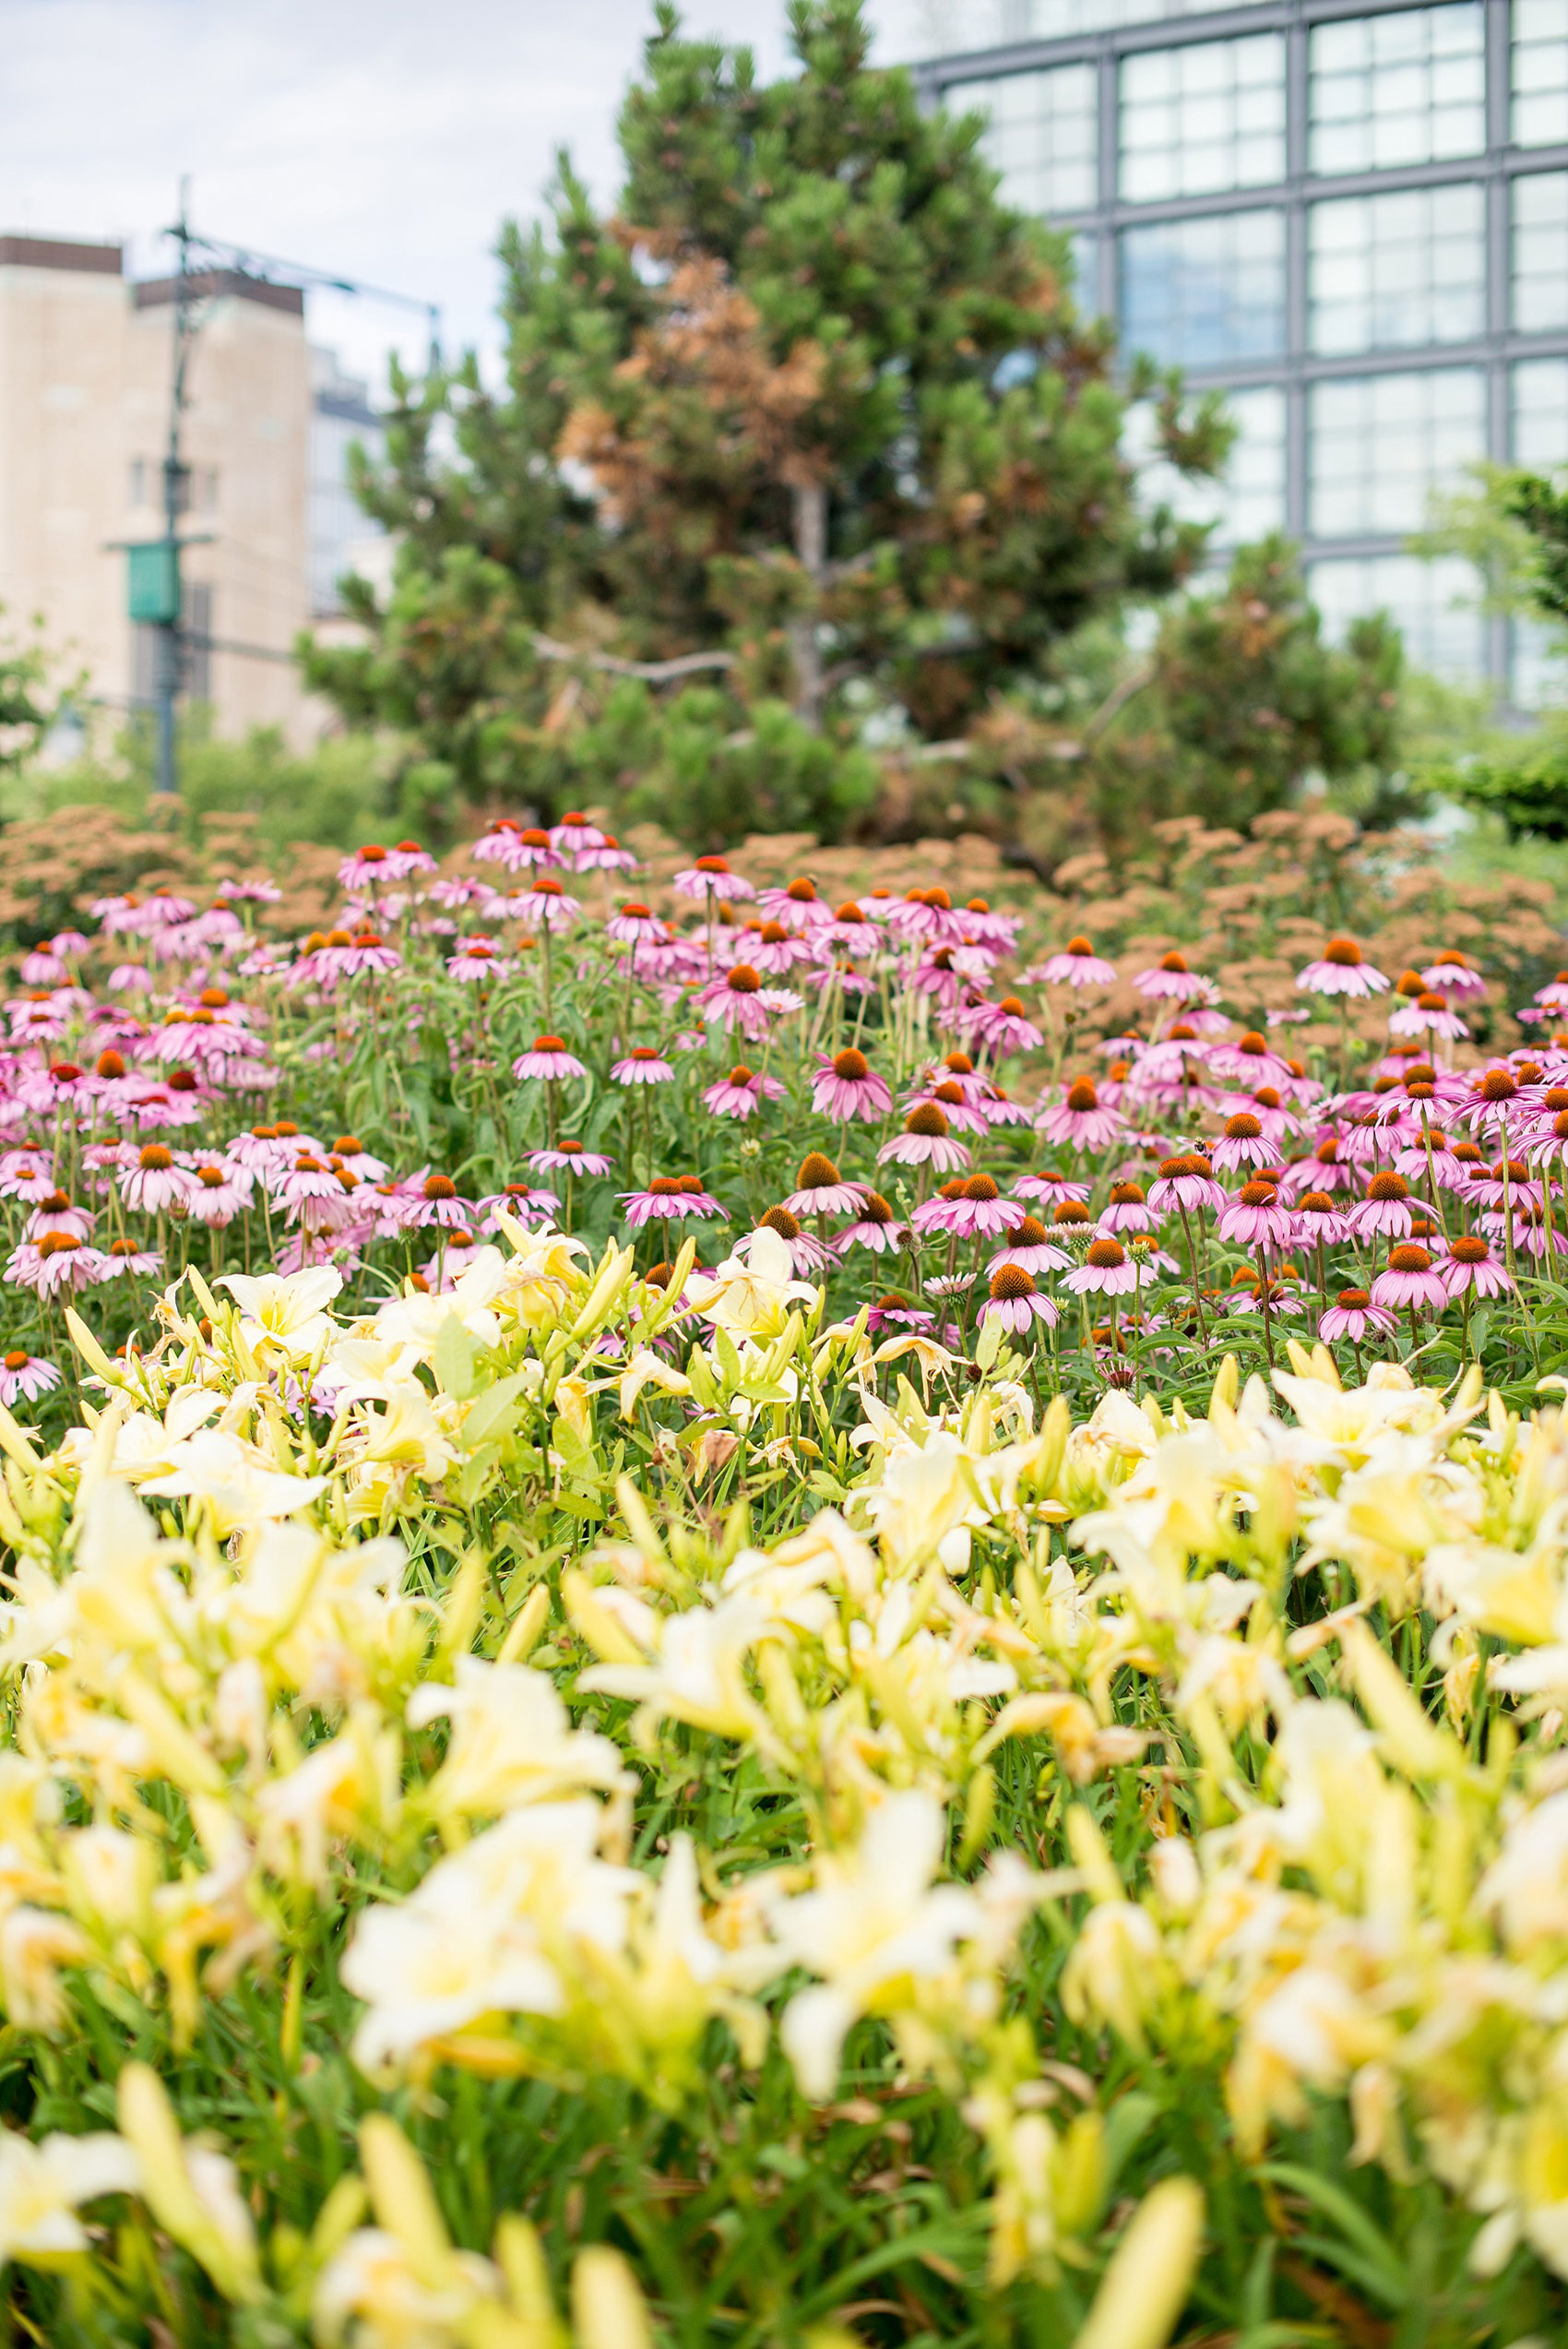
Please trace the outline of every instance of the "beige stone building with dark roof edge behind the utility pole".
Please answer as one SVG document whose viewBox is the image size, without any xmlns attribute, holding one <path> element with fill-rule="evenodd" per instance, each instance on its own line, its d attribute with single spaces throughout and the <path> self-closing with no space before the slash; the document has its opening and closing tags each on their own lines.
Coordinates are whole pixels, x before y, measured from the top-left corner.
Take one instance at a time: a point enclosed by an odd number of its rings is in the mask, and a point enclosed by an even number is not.
<svg viewBox="0 0 1568 2349">
<path fill-rule="evenodd" d="M 282 726 L 303 742 L 324 712 L 289 655 L 331 608 L 333 533 L 352 531 L 340 458 L 354 395 L 369 439 L 376 418 L 364 385 L 310 350 L 298 287 L 235 270 L 195 284 L 181 430 L 188 693 L 223 733 Z M 157 674 L 155 632 L 127 618 L 122 543 L 164 529 L 171 369 L 171 280 L 131 282 L 117 244 L 0 235 L 0 604 L 12 632 L 40 615 L 108 721 L 146 705 Z"/>
</svg>

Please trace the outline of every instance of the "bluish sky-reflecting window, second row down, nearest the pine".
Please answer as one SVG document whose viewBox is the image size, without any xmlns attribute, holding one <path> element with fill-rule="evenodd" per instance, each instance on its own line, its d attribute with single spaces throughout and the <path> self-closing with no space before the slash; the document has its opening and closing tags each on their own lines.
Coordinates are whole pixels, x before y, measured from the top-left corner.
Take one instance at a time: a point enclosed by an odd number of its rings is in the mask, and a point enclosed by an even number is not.
<svg viewBox="0 0 1568 2349">
<path fill-rule="evenodd" d="M 1162 364 L 1225 366 L 1284 350 L 1284 214 L 1124 228 L 1122 341 Z"/>
</svg>

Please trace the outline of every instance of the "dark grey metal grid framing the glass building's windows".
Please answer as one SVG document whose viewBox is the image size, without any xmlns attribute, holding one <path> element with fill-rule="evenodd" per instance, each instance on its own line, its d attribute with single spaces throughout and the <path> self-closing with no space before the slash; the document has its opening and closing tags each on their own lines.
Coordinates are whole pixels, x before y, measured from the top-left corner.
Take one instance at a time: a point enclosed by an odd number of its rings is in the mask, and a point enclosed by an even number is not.
<svg viewBox="0 0 1568 2349">
<path fill-rule="evenodd" d="M 1512 183 L 1537 171 L 1568 171 L 1568 143 L 1514 146 L 1512 132 L 1512 9 L 1509 0 L 1481 0 L 1483 146 L 1474 155 L 1401 164 L 1383 171 L 1307 169 L 1307 45 L 1312 28 L 1354 16 L 1394 16 L 1441 0 L 1242 0 L 1207 14 L 1160 16 L 1143 23 L 1106 26 L 1099 33 L 1063 33 L 1040 40 L 1005 40 L 915 66 L 927 103 L 939 103 L 953 85 L 1052 66 L 1096 68 L 1096 202 L 1091 211 L 1052 221 L 1075 237 L 1094 240 L 1094 308 L 1117 317 L 1120 233 L 1162 221 L 1214 218 L 1228 211 L 1284 211 L 1284 350 L 1277 359 L 1225 366 L 1188 366 L 1199 390 L 1249 390 L 1279 385 L 1286 397 L 1284 526 L 1300 543 L 1303 561 L 1329 557 L 1404 554 L 1406 540 L 1387 533 L 1314 538 L 1307 529 L 1307 406 L 1324 378 L 1425 373 L 1439 366 L 1481 369 L 1486 378 L 1486 458 L 1507 465 L 1512 456 L 1512 376 L 1519 359 L 1568 355 L 1568 331 L 1519 334 L 1512 324 Z M 1150 49 L 1195 47 L 1251 33 L 1284 33 L 1284 179 L 1223 195 L 1127 202 L 1117 188 L 1120 167 L 1120 68 L 1124 56 Z M 1465 343 L 1420 343 L 1399 350 L 1312 352 L 1307 348 L 1307 207 L 1331 197 L 1390 195 L 1401 188 L 1481 186 L 1486 235 L 1486 327 Z M 1509 622 L 1493 618 L 1486 634 L 1486 669 L 1507 688 L 1512 667 Z"/>
</svg>

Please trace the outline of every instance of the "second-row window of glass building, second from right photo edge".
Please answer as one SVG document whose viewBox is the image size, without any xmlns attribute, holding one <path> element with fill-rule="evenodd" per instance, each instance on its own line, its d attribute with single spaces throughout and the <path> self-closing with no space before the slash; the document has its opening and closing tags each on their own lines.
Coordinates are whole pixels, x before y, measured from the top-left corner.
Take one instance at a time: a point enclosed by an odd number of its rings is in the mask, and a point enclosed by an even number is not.
<svg viewBox="0 0 1568 2349">
<path fill-rule="evenodd" d="M 1465 343 L 1486 329 L 1486 202 L 1462 188 L 1352 195 L 1307 211 L 1312 350 Z"/>
</svg>

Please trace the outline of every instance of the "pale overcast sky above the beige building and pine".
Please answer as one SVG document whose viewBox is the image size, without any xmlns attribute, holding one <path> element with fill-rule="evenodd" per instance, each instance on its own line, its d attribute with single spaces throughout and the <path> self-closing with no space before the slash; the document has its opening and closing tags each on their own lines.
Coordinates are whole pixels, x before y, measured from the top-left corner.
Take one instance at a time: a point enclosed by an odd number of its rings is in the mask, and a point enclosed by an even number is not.
<svg viewBox="0 0 1568 2349">
<path fill-rule="evenodd" d="M 967 47 L 998 0 L 871 0 L 878 54 Z M 688 0 L 699 33 L 786 63 L 784 0 Z M 491 249 L 566 143 L 615 188 L 615 110 L 653 0 L 0 0 L 0 230 L 120 237 L 164 263 L 181 171 L 214 237 L 439 301 L 493 352 Z M 312 296 L 361 373 L 418 317 Z"/>
</svg>

